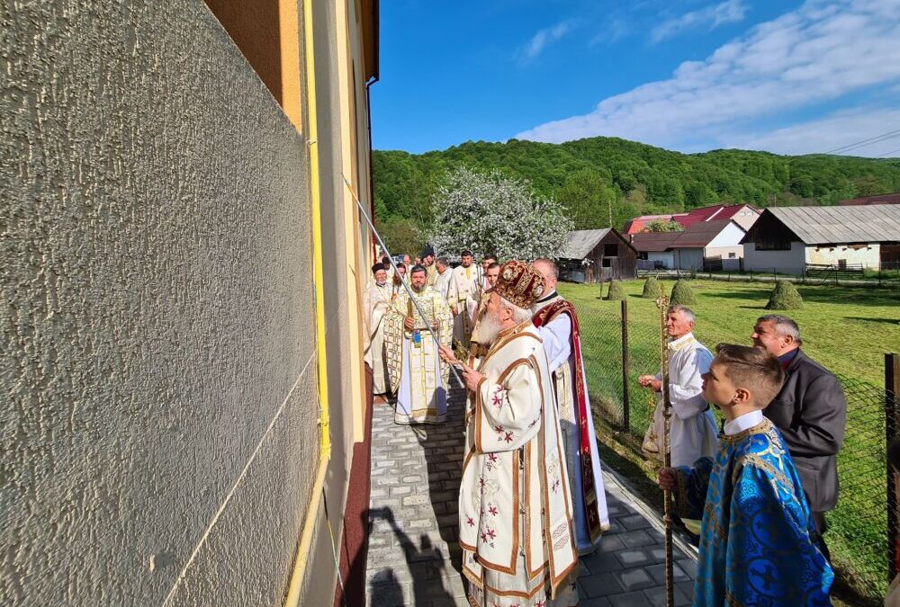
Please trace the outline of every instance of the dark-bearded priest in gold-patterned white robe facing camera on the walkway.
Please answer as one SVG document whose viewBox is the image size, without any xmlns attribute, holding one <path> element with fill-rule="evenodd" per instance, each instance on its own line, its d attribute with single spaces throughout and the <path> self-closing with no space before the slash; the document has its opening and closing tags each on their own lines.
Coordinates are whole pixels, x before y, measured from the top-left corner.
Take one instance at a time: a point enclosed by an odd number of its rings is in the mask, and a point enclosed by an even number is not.
<svg viewBox="0 0 900 607">
<path fill-rule="evenodd" d="M 435 331 L 441 344 L 449 345 L 450 308 L 426 285 L 426 273 L 420 265 L 410 271 L 410 288 L 425 317 L 402 290 L 386 318 L 384 340 L 390 386 L 397 391 L 397 424 L 441 424 L 446 419 L 450 369 L 441 362 L 438 344 L 428 328 Z"/>
</svg>

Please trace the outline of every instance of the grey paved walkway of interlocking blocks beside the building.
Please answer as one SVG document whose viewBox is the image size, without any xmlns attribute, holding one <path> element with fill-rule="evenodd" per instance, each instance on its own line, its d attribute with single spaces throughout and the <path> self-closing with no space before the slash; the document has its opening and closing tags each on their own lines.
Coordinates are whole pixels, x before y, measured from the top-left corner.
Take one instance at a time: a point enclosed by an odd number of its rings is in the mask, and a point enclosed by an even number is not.
<svg viewBox="0 0 900 607">
<path fill-rule="evenodd" d="M 456 403 L 440 426 L 396 425 L 391 406 L 375 406 L 367 605 L 468 605 L 456 542 L 462 393 L 453 396 Z M 658 518 L 615 476 L 605 481 L 611 528 L 599 551 L 581 559 L 581 606 L 664 605 Z M 676 549 L 677 605 L 690 604 L 696 569 L 693 558 Z"/>
</svg>

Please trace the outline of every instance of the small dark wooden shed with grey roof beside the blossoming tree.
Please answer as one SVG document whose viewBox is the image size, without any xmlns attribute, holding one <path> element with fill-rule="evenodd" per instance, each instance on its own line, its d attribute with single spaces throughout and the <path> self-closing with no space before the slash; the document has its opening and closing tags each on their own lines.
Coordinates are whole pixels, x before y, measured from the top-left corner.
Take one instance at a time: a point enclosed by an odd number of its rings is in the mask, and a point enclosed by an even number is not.
<svg viewBox="0 0 900 607">
<path fill-rule="evenodd" d="M 569 232 L 559 266 L 563 281 L 637 278 L 637 251 L 614 228 L 580 229 Z"/>
</svg>

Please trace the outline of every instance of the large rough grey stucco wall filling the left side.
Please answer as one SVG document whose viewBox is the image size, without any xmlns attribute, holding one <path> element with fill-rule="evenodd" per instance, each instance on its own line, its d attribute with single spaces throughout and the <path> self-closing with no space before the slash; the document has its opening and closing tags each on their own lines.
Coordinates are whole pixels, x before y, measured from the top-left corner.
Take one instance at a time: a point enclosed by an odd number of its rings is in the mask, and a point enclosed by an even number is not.
<svg viewBox="0 0 900 607">
<path fill-rule="evenodd" d="M 0 603 L 278 604 L 318 458 L 302 138 L 201 0 L 0 21 Z"/>
</svg>

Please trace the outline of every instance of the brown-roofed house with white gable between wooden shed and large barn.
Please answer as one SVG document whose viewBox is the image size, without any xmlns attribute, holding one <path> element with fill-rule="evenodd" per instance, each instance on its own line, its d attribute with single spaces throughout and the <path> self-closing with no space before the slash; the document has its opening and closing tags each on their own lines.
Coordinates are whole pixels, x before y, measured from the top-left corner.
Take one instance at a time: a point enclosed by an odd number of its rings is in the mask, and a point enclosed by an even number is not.
<svg viewBox="0 0 900 607">
<path fill-rule="evenodd" d="M 641 259 L 652 262 L 653 267 L 703 270 L 732 266 L 737 269 L 738 260 L 743 257 L 741 241 L 744 234 L 746 232 L 734 219 L 723 219 L 699 221 L 683 232 L 635 234 L 631 240 Z"/>
</svg>

